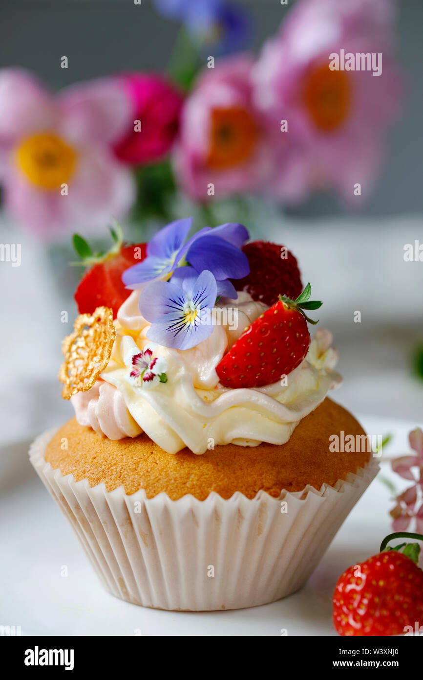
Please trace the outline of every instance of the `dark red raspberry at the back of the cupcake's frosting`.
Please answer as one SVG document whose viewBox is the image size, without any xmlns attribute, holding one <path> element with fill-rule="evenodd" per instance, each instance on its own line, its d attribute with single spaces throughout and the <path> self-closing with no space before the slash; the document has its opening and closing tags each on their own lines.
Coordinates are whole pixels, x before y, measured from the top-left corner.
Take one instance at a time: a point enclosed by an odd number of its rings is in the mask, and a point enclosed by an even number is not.
<svg viewBox="0 0 423 680">
<path fill-rule="evenodd" d="M 236 290 L 249 292 L 253 300 L 274 305 L 279 295 L 295 300 L 303 290 L 297 260 L 284 245 L 253 241 L 242 248 L 249 258 L 250 273 L 234 279 Z"/>
</svg>

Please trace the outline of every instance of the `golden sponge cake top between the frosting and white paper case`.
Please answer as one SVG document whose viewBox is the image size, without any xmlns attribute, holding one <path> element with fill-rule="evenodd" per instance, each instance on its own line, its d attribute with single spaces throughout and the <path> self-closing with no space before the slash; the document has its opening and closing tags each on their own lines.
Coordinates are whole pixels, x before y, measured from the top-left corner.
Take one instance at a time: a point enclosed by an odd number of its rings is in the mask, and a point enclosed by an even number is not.
<svg viewBox="0 0 423 680">
<path fill-rule="evenodd" d="M 227 444 L 198 456 L 189 449 L 168 454 L 145 434 L 111 441 L 73 418 L 56 432 L 45 460 L 76 481 L 88 479 L 91 487 L 104 482 L 107 491 L 124 486 L 126 494 L 142 488 L 147 498 L 166 492 L 172 500 L 185 494 L 204 500 L 212 491 L 222 498 L 236 491 L 254 498 L 259 490 L 278 497 L 282 489 L 334 486 L 369 462 L 369 452 L 330 451 L 329 438 L 342 430 L 354 438 L 365 435 L 346 409 L 326 398 L 301 420 L 286 444 Z M 62 448 L 64 437 L 67 449 Z"/>
</svg>

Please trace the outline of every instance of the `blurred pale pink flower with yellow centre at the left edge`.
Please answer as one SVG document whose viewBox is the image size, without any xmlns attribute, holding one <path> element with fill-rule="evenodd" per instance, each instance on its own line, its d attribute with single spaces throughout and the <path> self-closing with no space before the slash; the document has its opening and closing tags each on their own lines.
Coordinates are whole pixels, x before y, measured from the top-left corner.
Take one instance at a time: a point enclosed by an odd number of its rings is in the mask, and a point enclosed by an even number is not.
<svg viewBox="0 0 423 680">
<path fill-rule="evenodd" d="M 22 69 L 0 70 L 0 183 L 5 206 L 40 235 L 103 228 L 134 201 L 111 144 L 131 118 L 113 78 L 51 92 Z"/>
</svg>

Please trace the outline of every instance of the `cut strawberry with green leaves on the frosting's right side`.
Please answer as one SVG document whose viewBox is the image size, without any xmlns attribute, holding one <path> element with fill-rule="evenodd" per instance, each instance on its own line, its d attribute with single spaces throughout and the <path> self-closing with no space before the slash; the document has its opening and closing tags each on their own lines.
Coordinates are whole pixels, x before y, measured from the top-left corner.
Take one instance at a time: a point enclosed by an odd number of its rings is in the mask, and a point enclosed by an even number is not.
<svg viewBox="0 0 423 680">
<path fill-rule="evenodd" d="M 306 357 L 310 346 L 305 309 L 318 309 L 321 302 L 309 301 L 307 284 L 295 300 L 282 295 L 270 309 L 248 326 L 219 362 L 221 384 L 231 388 L 255 388 L 280 380 Z"/>
</svg>

